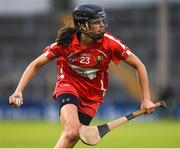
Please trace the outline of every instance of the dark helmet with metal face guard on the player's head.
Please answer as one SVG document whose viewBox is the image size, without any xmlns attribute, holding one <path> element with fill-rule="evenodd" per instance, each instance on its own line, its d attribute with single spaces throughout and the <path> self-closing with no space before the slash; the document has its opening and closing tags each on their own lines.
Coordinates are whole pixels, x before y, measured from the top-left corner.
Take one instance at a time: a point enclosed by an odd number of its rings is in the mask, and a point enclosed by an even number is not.
<svg viewBox="0 0 180 149">
<path fill-rule="evenodd" d="M 105 28 L 108 26 L 107 17 L 104 9 L 97 5 L 84 4 L 77 6 L 73 11 L 73 20 L 75 27 L 82 33 L 90 36 L 93 40 L 98 40 L 104 36 Z M 91 28 L 91 24 L 102 21 L 104 24 L 103 32 L 95 34 L 96 31 L 85 31 L 81 28 L 81 24 L 85 24 Z"/>
</svg>

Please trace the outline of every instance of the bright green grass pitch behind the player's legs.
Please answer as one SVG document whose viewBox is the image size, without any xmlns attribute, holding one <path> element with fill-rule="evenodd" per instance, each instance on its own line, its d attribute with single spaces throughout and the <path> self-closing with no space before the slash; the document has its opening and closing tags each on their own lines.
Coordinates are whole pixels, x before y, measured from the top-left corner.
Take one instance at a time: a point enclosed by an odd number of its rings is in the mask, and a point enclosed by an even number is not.
<svg viewBox="0 0 180 149">
<path fill-rule="evenodd" d="M 94 124 L 101 124 L 96 122 Z M 0 148 L 50 148 L 61 133 L 58 122 L 0 121 Z M 90 148 L 81 142 L 77 148 Z M 107 134 L 96 148 L 180 147 L 180 121 L 159 120 L 126 123 Z"/>
</svg>

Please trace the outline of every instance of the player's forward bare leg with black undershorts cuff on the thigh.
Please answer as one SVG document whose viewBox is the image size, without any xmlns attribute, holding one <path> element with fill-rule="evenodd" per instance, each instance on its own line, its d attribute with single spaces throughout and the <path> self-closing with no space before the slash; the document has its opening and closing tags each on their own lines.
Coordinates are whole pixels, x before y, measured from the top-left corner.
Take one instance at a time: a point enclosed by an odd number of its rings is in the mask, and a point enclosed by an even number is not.
<svg viewBox="0 0 180 149">
<path fill-rule="evenodd" d="M 79 140 L 78 101 L 76 96 L 71 94 L 62 94 L 57 100 L 60 102 L 60 121 L 63 131 L 55 148 L 71 148 Z"/>
</svg>

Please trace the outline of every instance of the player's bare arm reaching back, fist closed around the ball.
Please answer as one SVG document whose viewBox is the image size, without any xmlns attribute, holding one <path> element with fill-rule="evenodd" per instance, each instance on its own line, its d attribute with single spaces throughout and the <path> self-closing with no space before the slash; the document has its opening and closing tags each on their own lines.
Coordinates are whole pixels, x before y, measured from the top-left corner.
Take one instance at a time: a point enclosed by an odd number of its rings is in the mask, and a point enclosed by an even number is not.
<svg viewBox="0 0 180 149">
<path fill-rule="evenodd" d="M 44 54 L 40 55 L 38 58 L 36 58 L 33 62 L 31 62 L 26 70 L 24 71 L 20 82 L 15 90 L 15 92 L 9 97 L 9 103 L 13 107 L 18 107 L 21 104 L 23 104 L 23 96 L 22 92 L 28 82 L 33 78 L 33 76 L 38 72 L 38 70 L 45 64 L 47 64 L 50 59 L 48 59 Z M 17 102 L 17 98 L 19 101 Z"/>
</svg>

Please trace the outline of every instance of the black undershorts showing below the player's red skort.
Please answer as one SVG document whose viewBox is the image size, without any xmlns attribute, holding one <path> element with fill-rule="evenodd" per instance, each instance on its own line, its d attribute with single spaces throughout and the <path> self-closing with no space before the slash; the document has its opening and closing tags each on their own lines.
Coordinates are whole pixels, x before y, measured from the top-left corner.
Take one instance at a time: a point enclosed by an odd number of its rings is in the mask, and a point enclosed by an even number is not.
<svg viewBox="0 0 180 149">
<path fill-rule="evenodd" d="M 57 102 L 59 103 L 59 111 L 66 104 L 74 104 L 77 107 L 79 107 L 79 102 L 78 102 L 77 97 L 72 94 L 61 94 L 56 99 L 57 99 Z M 82 123 L 83 125 L 89 125 L 91 120 L 93 119 L 93 117 L 85 113 L 82 113 L 80 111 L 78 111 L 78 116 L 79 116 L 80 123 Z"/>
</svg>

